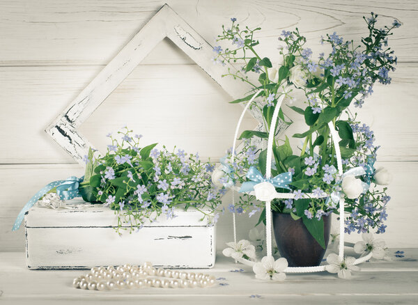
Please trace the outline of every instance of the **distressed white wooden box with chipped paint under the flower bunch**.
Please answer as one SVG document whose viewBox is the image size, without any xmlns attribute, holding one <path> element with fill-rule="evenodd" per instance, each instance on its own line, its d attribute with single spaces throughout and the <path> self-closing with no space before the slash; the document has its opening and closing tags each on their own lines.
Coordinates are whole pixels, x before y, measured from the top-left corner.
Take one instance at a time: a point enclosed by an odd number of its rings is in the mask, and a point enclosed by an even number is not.
<svg viewBox="0 0 418 305">
<path fill-rule="evenodd" d="M 68 201 L 69 208 L 34 206 L 26 212 L 26 261 L 29 269 L 88 269 L 94 266 L 153 265 L 210 268 L 215 264 L 215 226 L 196 210 L 176 211 L 144 224 L 132 234 L 115 232 L 117 218 L 102 205 Z"/>
</svg>

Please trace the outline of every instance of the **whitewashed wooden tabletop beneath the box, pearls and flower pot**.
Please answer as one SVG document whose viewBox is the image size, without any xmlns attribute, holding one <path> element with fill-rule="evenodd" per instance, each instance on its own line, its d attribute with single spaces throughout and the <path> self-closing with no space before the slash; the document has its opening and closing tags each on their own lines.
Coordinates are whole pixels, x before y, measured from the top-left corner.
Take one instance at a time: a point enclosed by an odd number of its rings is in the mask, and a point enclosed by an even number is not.
<svg viewBox="0 0 418 305">
<path fill-rule="evenodd" d="M 327 272 L 258 281 L 219 253 L 213 269 L 201 270 L 216 276 L 215 287 L 90 291 L 71 286 L 86 270 L 29 270 L 24 253 L 0 252 L 0 304 L 418 304 L 418 249 L 391 253 L 391 261 L 363 263 L 350 281 Z"/>
</svg>

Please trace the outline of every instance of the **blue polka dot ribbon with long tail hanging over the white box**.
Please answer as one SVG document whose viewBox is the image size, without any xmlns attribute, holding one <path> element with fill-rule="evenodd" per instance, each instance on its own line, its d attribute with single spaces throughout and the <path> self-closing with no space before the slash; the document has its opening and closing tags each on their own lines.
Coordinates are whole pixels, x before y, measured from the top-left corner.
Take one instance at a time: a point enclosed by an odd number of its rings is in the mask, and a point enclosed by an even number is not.
<svg viewBox="0 0 418 305">
<path fill-rule="evenodd" d="M 12 230 L 17 230 L 20 228 L 20 224 L 22 224 L 24 214 L 29 211 L 30 208 L 39 200 L 42 196 L 47 194 L 48 191 L 56 187 L 56 194 L 62 200 L 70 200 L 75 197 L 79 197 L 79 182 L 84 180 L 84 176 L 82 178 L 77 178 L 75 176 L 71 176 L 65 180 L 58 180 L 49 183 L 49 185 L 45 185 L 38 193 L 36 193 L 27 203 L 24 205 L 22 210 L 20 211 L 19 215 L 17 215 L 17 219 L 15 224 L 13 224 Z"/>
</svg>

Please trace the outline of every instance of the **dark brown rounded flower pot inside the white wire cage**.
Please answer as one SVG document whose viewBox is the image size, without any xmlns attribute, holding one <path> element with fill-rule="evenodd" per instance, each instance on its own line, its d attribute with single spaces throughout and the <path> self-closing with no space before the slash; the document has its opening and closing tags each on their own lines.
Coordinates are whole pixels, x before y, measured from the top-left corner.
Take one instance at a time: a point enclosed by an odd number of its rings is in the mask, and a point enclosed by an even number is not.
<svg viewBox="0 0 418 305">
<path fill-rule="evenodd" d="M 323 216 L 325 245 L 330 240 L 331 217 Z M 302 219 L 293 220 L 291 214 L 273 212 L 274 237 L 282 258 L 289 267 L 318 266 L 326 247 L 320 247 L 315 238 L 304 226 Z"/>
</svg>

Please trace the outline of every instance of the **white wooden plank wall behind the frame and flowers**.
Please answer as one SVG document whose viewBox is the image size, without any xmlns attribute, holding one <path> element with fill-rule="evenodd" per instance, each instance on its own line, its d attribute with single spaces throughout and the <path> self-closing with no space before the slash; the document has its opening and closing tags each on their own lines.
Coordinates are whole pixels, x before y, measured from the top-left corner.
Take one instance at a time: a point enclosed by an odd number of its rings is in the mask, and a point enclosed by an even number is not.
<svg viewBox="0 0 418 305">
<path fill-rule="evenodd" d="M 417 1 L 165 2 L 212 45 L 230 17 L 261 26 L 261 52 L 273 62 L 282 29 L 297 26 L 318 52 L 325 33 L 337 31 L 358 40 L 366 33 L 362 16 L 370 11 L 381 15 L 381 22 L 399 19 L 404 25 L 391 41 L 399 62 L 393 84 L 376 86 L 361 118 L 372 125 L 382 145 L 378 165 L 394 174 L 385 240 L 391 247 L 418 246 Z M 45 127 L 165 2 L 0 1 L 0 251 L 23 251 L 23 230 L 11 233 L 11 227 L 38 189 L 83 173 L 45 134 Z M 170 147 L 177 143 L 218 159 L 231 146 L 241 110 L 229 100 L 193 61 L 163 40 L 80 130 L 103 149 L 104 135 L 127 123 L 144 134 L 144 143 L 158 141 Z M 247 117 L 245 127 L 255 125 Z M 227 194 L 224 203 L 230 198 Z M 247 237 L 255 220 L 238 217 L 239 238 Z M 230 221 L 231 214 L 219 221 L 219 247 L 232 238 Z"/>
</svg>

